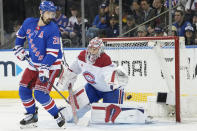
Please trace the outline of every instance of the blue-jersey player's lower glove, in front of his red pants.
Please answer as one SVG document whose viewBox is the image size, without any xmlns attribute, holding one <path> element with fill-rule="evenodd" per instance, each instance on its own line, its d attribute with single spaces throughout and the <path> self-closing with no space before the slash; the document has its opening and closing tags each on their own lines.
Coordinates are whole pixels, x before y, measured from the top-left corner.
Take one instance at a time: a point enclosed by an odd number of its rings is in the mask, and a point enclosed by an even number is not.
<svg viewBox="0 0 197 131">
<path fill-rule="evenodd" d="M 47 65 L 41 65 L 39 79 L 42 83 L 46 83 L 49 80 L 49 67 Z"/>
</svg>

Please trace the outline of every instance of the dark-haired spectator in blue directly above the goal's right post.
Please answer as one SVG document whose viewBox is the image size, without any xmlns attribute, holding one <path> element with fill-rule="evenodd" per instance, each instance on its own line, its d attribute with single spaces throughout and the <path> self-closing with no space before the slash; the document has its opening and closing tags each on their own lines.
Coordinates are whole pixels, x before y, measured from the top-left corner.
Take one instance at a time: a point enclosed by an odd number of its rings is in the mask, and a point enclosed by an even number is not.
<svg viewBox="0 0 197 131">
<path fill-rule="evenodd" d="M 191 25 L 190 22 L 184 20 L 184 13 L 182 10 L 175 11 L 175 23 L 173 24 L 177 28 L 177 35 L 185 35 L 185 27 Z"/>
</svg>

